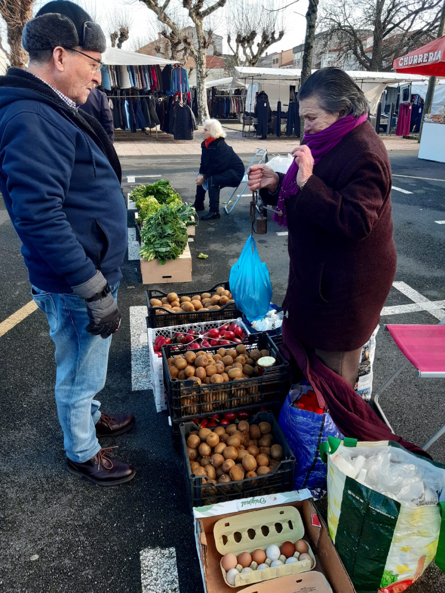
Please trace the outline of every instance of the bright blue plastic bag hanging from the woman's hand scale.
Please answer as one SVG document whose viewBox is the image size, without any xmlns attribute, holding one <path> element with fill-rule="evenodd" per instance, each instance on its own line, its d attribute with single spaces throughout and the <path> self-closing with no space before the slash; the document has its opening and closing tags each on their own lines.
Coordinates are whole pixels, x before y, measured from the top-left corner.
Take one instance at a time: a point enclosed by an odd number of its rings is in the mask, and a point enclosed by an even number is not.
<svg viewBox="0 0 445 593">
<path fill-rule="evenodd" d="M 236 307 L 249 321 L 258 321 L 265 316 L 272 297 L 272 285 L 269 270 L 261 262 L 253 235 L 246 241 L 238 262 L 230 270 L 229 285 Z"/>
</svg>

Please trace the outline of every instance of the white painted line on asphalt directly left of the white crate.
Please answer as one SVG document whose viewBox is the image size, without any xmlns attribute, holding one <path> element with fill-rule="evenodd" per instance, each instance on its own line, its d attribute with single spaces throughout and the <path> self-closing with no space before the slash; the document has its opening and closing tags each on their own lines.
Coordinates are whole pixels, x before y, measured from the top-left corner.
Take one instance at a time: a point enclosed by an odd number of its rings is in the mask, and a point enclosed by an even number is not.
<svg viewBox="0 0 445 593">
<path fill-rule="evenodd" d="M 130 307 L 133 391 L 152 388 L 146 317 L 147 307 Z"/>
</svg>

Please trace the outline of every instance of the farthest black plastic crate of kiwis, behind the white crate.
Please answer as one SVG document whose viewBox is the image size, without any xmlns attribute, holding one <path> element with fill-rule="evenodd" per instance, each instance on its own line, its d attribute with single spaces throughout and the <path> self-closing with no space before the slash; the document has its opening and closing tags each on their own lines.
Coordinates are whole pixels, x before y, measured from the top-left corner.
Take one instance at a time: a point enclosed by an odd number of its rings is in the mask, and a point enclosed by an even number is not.
<svg viewBox="0 0 445 593">
<path fill-rule="evenodd" d="M 181 297 L 194 297 L 194 295 L 202 294 L 203 292 L 210 292 L 210 294 L 216 294 L 218 286 L 223 286 L 226 291 L 230 291 L 228 282 L 220 282 L 215 284 L 213 288 L 204 290 L 195 290 L 192 292 L 178 292 L 177 295 Z M 151 291 L 145 291 L 145 298 L 147 299 L 148 307 L 148 326 L 149 327 L 169 327 L 169 326 L 182 326 L 186 323 L 200 323 L 202 321 L 224 321 L 229 319 L 237 319 L 242 317 L 241 311 L 236 307 L 235 303 L 224 305 L 220 309 L 212 311 L 184 311 L 183 313 L 172 313 L 164 307 L 152 307 L 150 299 L 157 298 L 161 300 L 162 297 L 167 297 L 167 292 L 158 291 L 153 289 Z M 164 314 L 156 314 L 157 310 L 166 311 Z"/>
</svg>

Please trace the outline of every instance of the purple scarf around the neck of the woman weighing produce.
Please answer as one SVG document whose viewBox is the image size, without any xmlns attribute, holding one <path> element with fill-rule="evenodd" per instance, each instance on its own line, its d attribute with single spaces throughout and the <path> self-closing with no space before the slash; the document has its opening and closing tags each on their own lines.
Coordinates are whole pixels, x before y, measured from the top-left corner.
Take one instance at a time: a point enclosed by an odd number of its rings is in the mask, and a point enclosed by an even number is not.
<svg viewBox="0 0 445 593">
<path fill-rule="evenodd" d="M 341 117 L 324 130 L 321 130 L 321 132 L 305 134 L 304 139 L 306 145 L 310 148 L 310 152 L 312 152 L 313 164 L 317 165 L 325 154 L 328 154 L 334 146 L 337 146 L 347 133 L 351 132 L 354 127 L 360 126 L 363 122 L 366 122 L 366 120 L 367 115 L 365 113 L 359 117 L 347 115 L 346 117 Z M 278 216 L 278 214 L 274 214 L 272 217 L 280 227 L 287 227 L 286 200 L 289 199 L 290 196 L 296 196 L 300 189 L 295 181 L 297 171 L 298 165 L 295 161 L 292 161 L 292 165 L 290 165 L 284 176 L 283 183 L 281 183 L 277 210 L 281 210 L 283 215 Z"/>
</svg>

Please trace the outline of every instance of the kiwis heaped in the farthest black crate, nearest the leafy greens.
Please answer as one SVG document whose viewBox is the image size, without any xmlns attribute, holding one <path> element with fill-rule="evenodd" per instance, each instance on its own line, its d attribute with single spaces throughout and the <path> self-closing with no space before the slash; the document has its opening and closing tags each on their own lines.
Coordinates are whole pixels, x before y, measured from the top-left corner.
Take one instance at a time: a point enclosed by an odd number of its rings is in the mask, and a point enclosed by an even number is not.
<svg viewBox="0 0 445 593">
<path fill-rule="evenodd" d="M 203 292 L 201 295 L 193 297 L 178 297 L 175 292 L 170 292 L 167 297 L 161 299 L 151 298 L 151 307 L 162 307 L 156 309 L 156 315 L 166 313 L 184 313 L 190 311 L 213 311 L 225 307 L 225 305 L 235 304 L 232 294 L 224 286 L 218 286 L 214 295 L 210 292 Z M 167 309 L 167 311 L 165 311 Z"/>
</svg>

